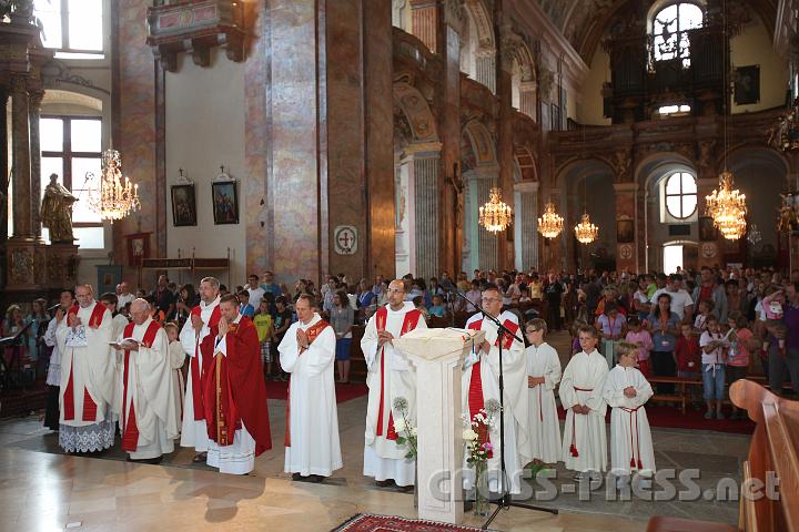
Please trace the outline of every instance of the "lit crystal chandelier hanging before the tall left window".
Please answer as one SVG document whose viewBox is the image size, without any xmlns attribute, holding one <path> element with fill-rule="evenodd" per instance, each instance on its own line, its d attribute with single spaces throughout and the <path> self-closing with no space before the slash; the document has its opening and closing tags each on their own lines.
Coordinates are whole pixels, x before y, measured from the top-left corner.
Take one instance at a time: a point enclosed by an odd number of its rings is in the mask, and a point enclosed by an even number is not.
<svg viewBox="0 0 799 532">
<path fill-rule="evenodd" d="M 100 173 L 99 188 L 92 191 L 89 203 L 102 219 L 113 223 L 141 207 L 139 185 L 133 185 L 128 176 L 122 184 L 122 161 L 117 150 L 103 152 Z"/>
</svg>

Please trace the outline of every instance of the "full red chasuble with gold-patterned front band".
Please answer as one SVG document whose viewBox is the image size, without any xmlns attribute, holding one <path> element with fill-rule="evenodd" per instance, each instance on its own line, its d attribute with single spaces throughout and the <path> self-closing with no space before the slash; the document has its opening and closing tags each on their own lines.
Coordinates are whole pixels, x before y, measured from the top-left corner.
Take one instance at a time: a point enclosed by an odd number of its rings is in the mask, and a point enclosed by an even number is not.
<svg viewBox="0 0 799 532">
<path fill-rule="evenodd" d="M 272 433 L 261 348 L 250 318 L 243 316 L 237 325 L 231 325 L 225 344 L 227 356 L 215 356 L 216 334 L 200 344 L 203 360 L 208 360 L 203 362 L 202 388 L 209 438 L 220 446 L 230 446 L 243 421 L 255 440 L 259 456 L 272 449 Z"/>
</svg>

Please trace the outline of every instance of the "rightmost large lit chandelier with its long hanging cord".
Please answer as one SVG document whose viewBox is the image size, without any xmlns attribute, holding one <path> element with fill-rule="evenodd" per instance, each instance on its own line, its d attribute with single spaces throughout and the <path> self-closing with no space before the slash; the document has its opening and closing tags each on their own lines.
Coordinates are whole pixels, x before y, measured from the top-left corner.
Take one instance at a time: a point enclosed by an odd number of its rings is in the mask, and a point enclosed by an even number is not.
<svg viewBox="0 0 799 532">
<path fill-rule="evenodd" d="M 727 2 L 724 6 L 724 42 L 729 43 L 727 39 Z M 728 45 L 728 44 L 727 44 Z M 726 52 L 726 50 L 725 50 Z M 746 194 L 732 188 L 732 173 L 727 170 L 727 100 L 729 99 L 729 85 L 727 84 L 727 53 L 724 54 L 725 65 L 725 99 L 724 99 L 724 135 L 725 135 L 725 170 L 719 174 L 719 187 L 709 196 L 705 196 L 707 207 L 705 213 L 714 221 L 714 225 L 721 232 L 721 235 L 728 241 L 737 241 L 746 235 Z"/>
</svg>

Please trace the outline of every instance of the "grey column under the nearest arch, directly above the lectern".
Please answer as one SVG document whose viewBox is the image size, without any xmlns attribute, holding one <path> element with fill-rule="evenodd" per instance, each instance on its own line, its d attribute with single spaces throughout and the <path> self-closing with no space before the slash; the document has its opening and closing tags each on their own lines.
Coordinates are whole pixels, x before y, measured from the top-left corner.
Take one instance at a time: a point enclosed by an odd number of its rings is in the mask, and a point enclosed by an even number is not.
<svg viewBox="0 0 799 532">
<path fill-rule="evenodd" d="M 415 259 L 412 267 L 416 277 L 428 279 L 441 275 L 438 272 L 441 144 L 411 145 L 405 151 L 413 154 Z"/>
</svg>

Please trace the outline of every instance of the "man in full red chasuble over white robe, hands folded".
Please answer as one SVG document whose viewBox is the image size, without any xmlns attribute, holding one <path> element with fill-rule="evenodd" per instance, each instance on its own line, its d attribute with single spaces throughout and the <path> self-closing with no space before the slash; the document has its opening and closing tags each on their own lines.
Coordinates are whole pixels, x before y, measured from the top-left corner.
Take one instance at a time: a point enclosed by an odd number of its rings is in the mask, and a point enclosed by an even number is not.
<svg viewBox="0 0 799 532">
<path fill-rule="evenodd" d="M 202 376 L 208 428 L 208 464 L 246 474 L 255 457 L 272 449 L 266 387 L 255 326 L 239 314 L 239 299 L 220 299 L 219 334 L 200 344 L 208 366 Z"/>
</svg>

